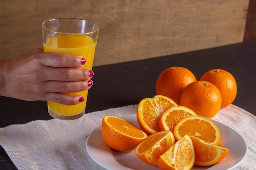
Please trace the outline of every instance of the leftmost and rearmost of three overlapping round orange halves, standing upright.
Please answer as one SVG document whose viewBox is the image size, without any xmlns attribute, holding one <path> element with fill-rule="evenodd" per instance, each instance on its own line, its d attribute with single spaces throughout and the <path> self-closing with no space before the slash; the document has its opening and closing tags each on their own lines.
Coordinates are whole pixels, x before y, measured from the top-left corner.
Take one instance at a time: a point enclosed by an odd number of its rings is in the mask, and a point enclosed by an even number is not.
<svg viewBox="0 0 256 170">
<path fill-rule="evenodd" d="M 162 95 L 142 99 L 137 108 L 139 127 L 148 135 L 161 131 L 159 128 L 159 117 L 168 108 L 176 105 L 172 99 Z"/>
</svg>

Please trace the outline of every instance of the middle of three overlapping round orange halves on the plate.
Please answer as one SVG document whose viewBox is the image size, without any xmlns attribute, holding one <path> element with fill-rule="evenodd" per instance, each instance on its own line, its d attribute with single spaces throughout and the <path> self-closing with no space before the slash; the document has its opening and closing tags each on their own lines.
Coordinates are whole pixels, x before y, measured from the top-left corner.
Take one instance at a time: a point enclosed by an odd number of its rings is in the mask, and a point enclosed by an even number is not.
<svg viewBox="0 0 256 170">
<path fill-rule="evenodd" d="M 170 130 L 173 132 L 175 125 L 188 116 L 196 116 L 195 112 L 185 106 L 173 106 L 166 110 L 159 119 L 161 130 Z"/>
</svg>

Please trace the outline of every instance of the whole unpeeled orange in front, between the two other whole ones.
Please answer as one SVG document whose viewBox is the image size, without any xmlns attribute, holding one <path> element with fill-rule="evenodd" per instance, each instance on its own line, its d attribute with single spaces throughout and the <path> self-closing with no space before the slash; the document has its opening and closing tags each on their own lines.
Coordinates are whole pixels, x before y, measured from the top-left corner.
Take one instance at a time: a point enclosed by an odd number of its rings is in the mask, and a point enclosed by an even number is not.
<svg viewBox="0 0 256 170">
<path fill-rule="evenodd" d="M 193 110 L 197 115 L 212 118 L 220 110 L 220 91 L 207 81 L 192 82 L 180 95 L 180 105 Z"/>
</svg>

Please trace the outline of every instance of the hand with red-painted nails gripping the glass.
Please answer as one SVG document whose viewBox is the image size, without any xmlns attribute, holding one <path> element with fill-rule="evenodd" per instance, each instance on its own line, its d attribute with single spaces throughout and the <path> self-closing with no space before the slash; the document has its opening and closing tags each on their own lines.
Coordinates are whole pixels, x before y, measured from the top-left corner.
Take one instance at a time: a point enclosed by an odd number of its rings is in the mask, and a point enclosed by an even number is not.
<svg viewBox="0 0 256 170">
<path fill-rule="evenodd" d="M 0 95 L 22 100 L 49 100 L 74 105 L 82 96 L 78 92 L 92 86 L 93 72 L 81 69 L 85 59 L 59 53 L 44 53 L 36 49 L 14 59 L 0 61 Z"/>
</svg>

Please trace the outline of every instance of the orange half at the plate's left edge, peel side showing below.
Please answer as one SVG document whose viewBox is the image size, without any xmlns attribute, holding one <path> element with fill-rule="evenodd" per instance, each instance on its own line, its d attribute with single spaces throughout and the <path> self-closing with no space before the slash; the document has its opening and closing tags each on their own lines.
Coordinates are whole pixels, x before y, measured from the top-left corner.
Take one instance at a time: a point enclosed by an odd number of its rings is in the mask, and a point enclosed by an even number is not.
<svg viewBox="0 0 256 170">
<path fill-rule="evenodd" d="M 130 122 L 115 116 L 104 116 L 101 133 L 110 148 L 120 152 L 129 152 L 148 135 Z"/>
</svg>

